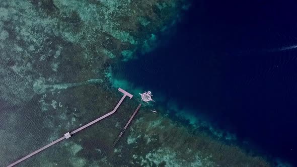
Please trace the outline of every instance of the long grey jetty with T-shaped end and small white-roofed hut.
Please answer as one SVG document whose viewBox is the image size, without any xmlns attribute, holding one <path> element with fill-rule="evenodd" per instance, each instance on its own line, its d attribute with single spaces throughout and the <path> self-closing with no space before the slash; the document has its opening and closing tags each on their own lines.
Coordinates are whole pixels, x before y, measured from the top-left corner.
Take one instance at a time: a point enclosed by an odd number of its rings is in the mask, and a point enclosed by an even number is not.
<svg viewBox="0 0 297 167">
<path fill-rule="evenodd" d="M 35 154 L 37 154 L 37 153 L 45 150 L 46 148 L 48 148 L 48 147 L 50 147 L 50 146 L 52 146 L 52 145 L 54 145 L 54 144 L 56 144 L 56 143 L 64 140 L 64 139 L 67 139 L 67 138 L 71 137 L 71 135 L 73 135 L 73 134 L 75 134 L 75 133 L 77 133 L 77 132 L 79 132 L 79 131 L 81 131 L 81 130 L 83 130 L 83 129 L 85 129 L 85 128 L 93 125 L 93 124 L 95 124 L 96 122 L 98 122 L 100 120 L 103 120 L 104 118 L 106 118 L 106 117 L 108 117 L 108 116 L 110 116 L 112 114 L 114 114 L 116 112 L 116 110 L 119 108 L 119 106 L 121 105 L 121 103 L 123 102 L 123 100 L 125 99 L 126 96 L 128 96 L 130 99 L 133 97 L 133 95 L 129 94 L 128 92 L 126 92 L 124 90 L 122 90 L 121 88 L 119 88 L 118 91 L 121 92 L 121 93 L 123 93 L 124 95 L 123 95 L 122 99 L 118 102 L 118 104 L 115 106 L 115 108 L 111 112 L 109 112 L 109 113 L 107 113 L 107 114 L 105 114 L 105 115 L 103 115 L 103 116 L 95 119 L 94 121 L 92 121 L 92 122 L 90 122 L 90 123 L 88 123 L 88 124 L 86 124 L 86 125 L 78 128 L 76 130 L 73 130 L 72 132 L 65 133 L 63 137 L 61 137 L 61 138 L 59 138 L 59 139 L 57 139 L 57 140 L 55 140 L 55 141 L 53 141 L 53 142 L 51 142 L 51 143 L 43 146 L 42 148 L 40 148 L 40 149 L 38 149 L 38 150 L 30 153 L 29 155 L 27 155 L 27 156 L 25 156 L 25 157 L 23 157 L 23 158 L 21 158 L 21 159 L 19 159 L 17 161 L 15 161 L 14 163 L 8 165 L 7 167 L 14 166 L 14 165 L 16 165 L 16 164 L 18 164 L 18 163 L 20 163 L 20 162 L 28 159 L 29 157 L 31 157 L 31 156 L 33 156 L 33 155 L 35 155 Z"/>
</svg>

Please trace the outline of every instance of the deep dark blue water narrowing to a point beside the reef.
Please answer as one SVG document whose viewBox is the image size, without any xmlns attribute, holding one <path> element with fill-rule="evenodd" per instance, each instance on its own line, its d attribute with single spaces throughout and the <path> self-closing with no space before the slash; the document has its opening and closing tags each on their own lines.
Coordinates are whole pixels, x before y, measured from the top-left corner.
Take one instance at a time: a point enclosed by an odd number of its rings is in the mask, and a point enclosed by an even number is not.
<svg viewBox="0 0 297 167">
<path fill-rule="evenodd" d="M 199 1 L 158 49 L 113 72 L 297 165 L 296 16 L 294 1 Z"/>
</svg>

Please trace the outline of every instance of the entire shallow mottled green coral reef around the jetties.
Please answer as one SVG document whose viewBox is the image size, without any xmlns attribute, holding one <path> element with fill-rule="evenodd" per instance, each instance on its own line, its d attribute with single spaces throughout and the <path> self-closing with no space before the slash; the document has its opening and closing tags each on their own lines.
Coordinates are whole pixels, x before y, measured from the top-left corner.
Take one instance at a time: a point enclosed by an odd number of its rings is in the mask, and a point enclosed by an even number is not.
<svg viewBox="0 0 297 167">
<path fill-rule="evenodd" d="M 157 32 L 187 8 L 186 0 L 0 0 L 0 164 L 113 109 L 121 95 L 106 77 L 109 65 L 152 50 Z M 133 106 L 125 101 L 110 119 L 22 166 L 268 165 L 145 107 L 113 150 Z"/>
</svg>

